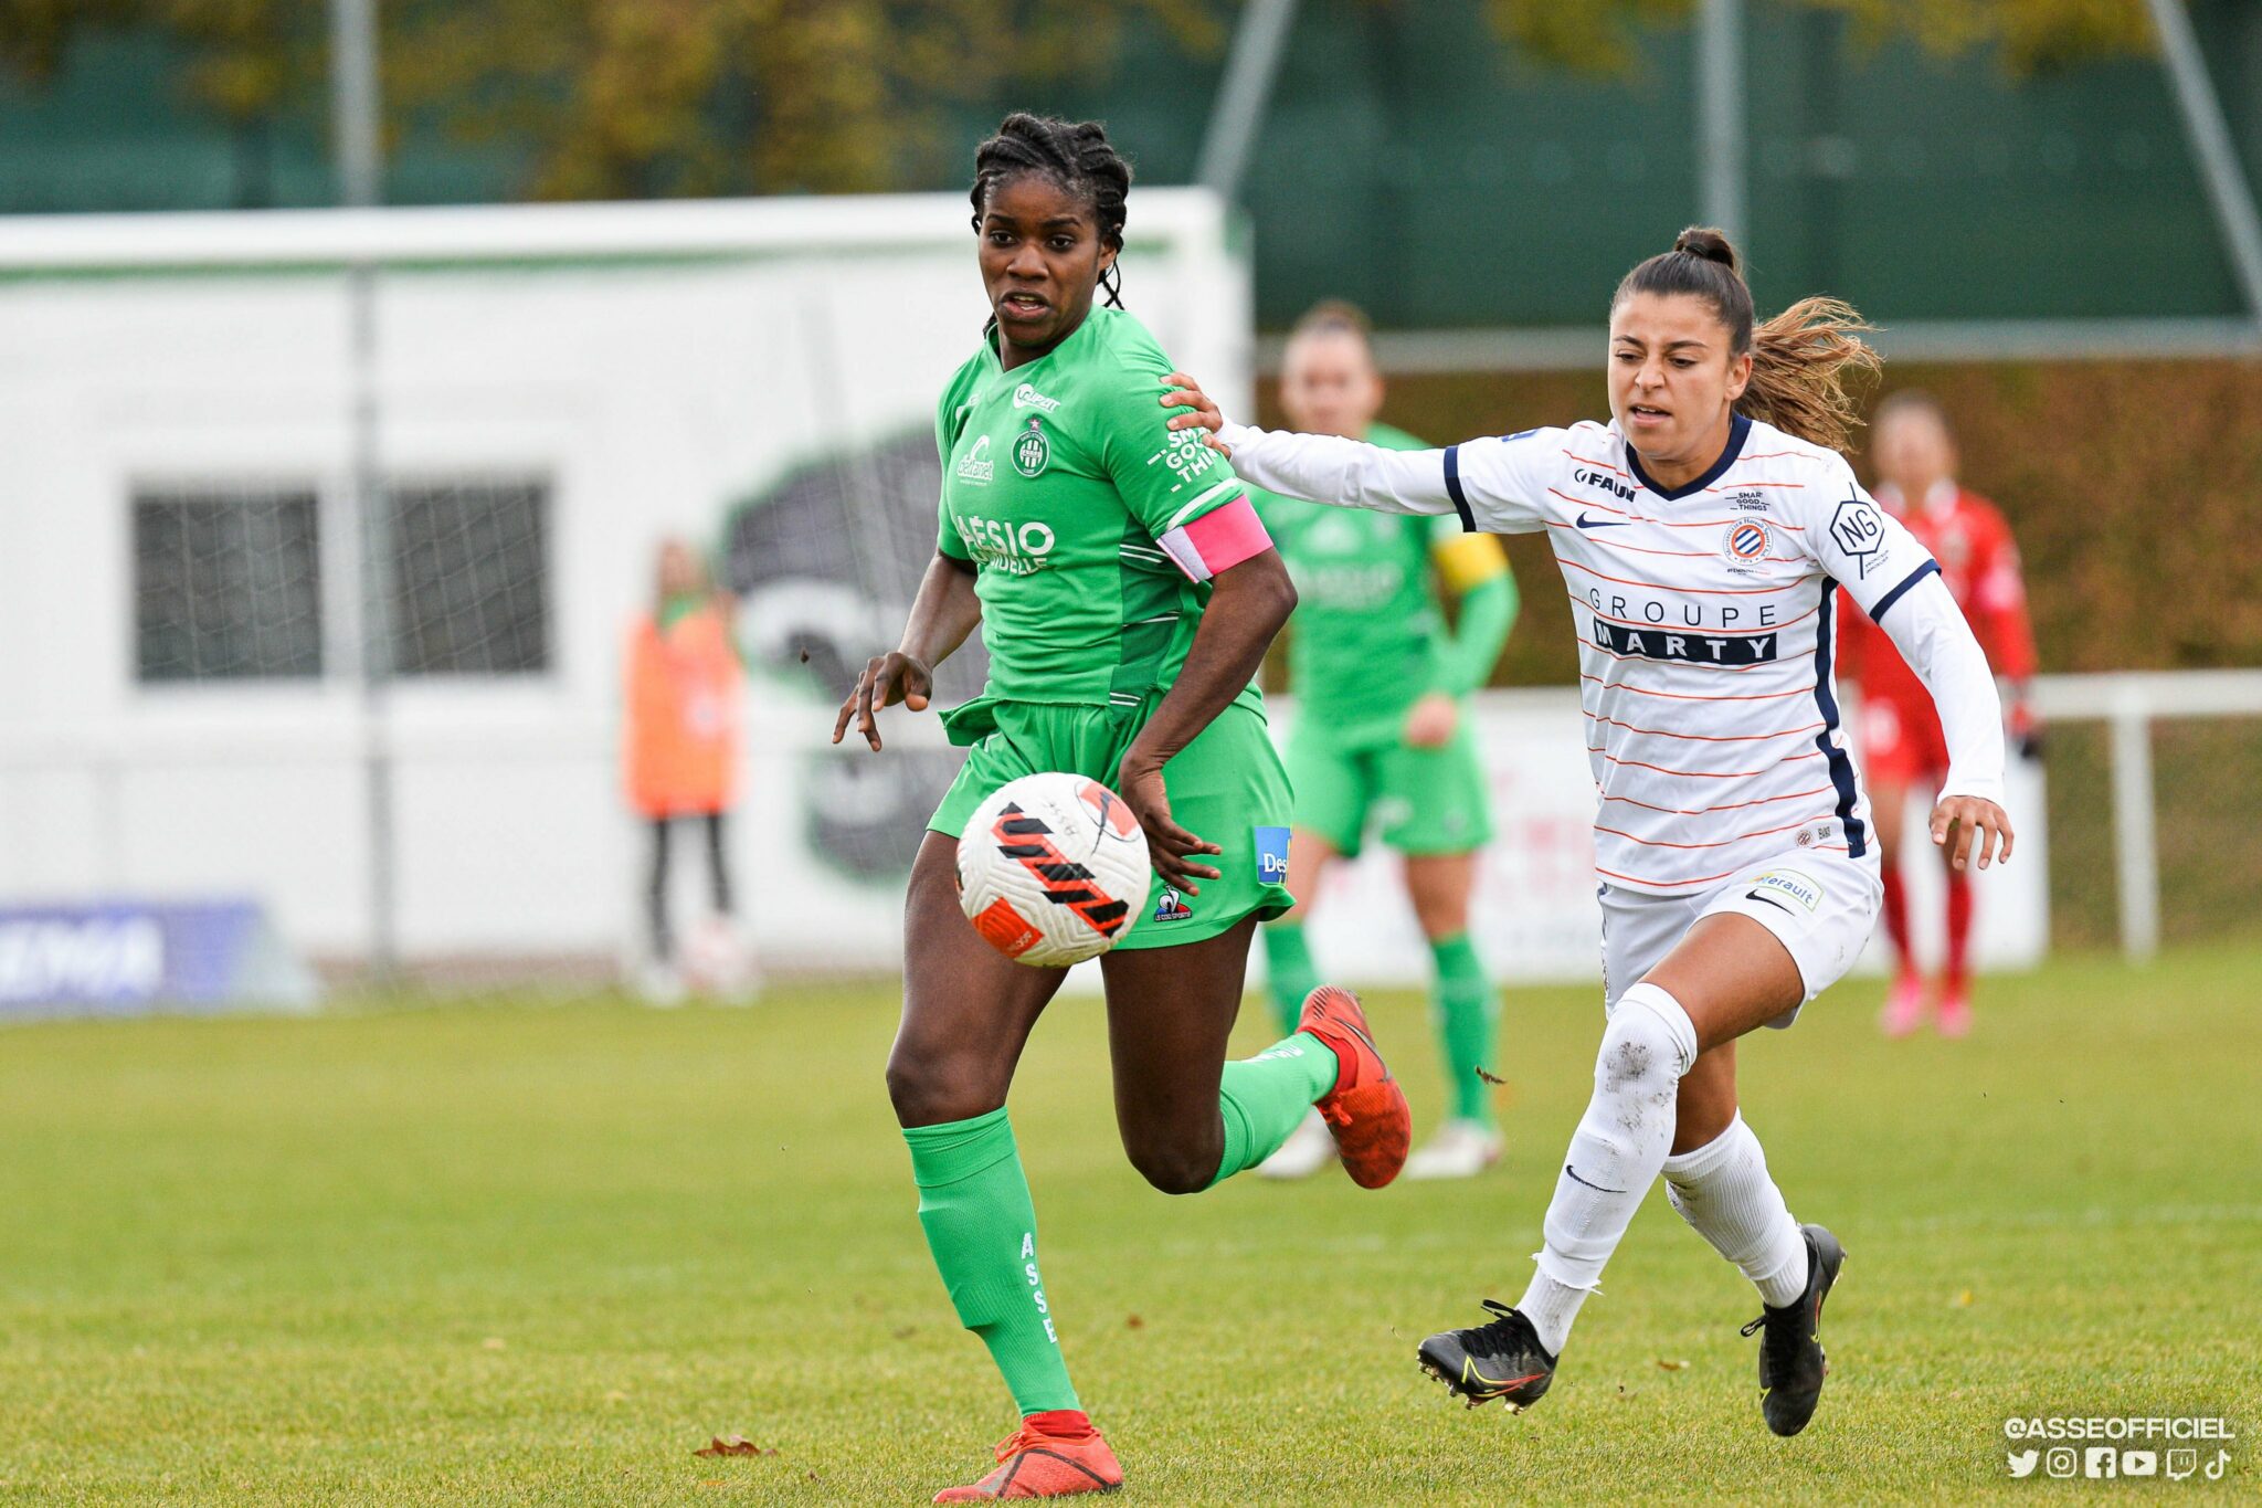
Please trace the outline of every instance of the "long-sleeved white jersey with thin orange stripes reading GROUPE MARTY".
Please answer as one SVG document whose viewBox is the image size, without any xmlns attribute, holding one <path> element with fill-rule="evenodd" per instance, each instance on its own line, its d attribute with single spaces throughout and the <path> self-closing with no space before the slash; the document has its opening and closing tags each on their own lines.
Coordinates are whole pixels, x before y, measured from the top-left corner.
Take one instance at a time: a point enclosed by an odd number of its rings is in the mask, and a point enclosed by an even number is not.
<svg viewBox="0 0 2262 1508">
<path fill-rule="evenodd" d="M 1963 769 L 1952 762 L 1950 789 L 2002 798 L 1995 690 L 1968 685 L 1972 662 L 1986 681 L 1984 658 L 1948 644 L 1945 592 L 1939 581 L 1920 590 L 1939 574 L 1932 554 L 1830 450 L 1735 416 L 1712 468 L 1658 486 L 1617 425 L 1597 423 L 1425 452 L 1244 425 L 1219 441 L 1235 473 L 1267 491 L 1547 534 L 1579 633 L 1601 800 L 1595 870 L 1608 884 L 1685 895 L 1798 848 L 1875 864 L 1868 798 L 1839 733 L 1841 583 L 1896 642 L 1909 640 L 1911 665 L 1952 667 L 1941 683 L 1957 687 L 1961 714 L 1948 721 L 1961 723 L 1966 757 Z M 1896 622 L 1902 599 L 1911 608 Z"/>
</svg>

